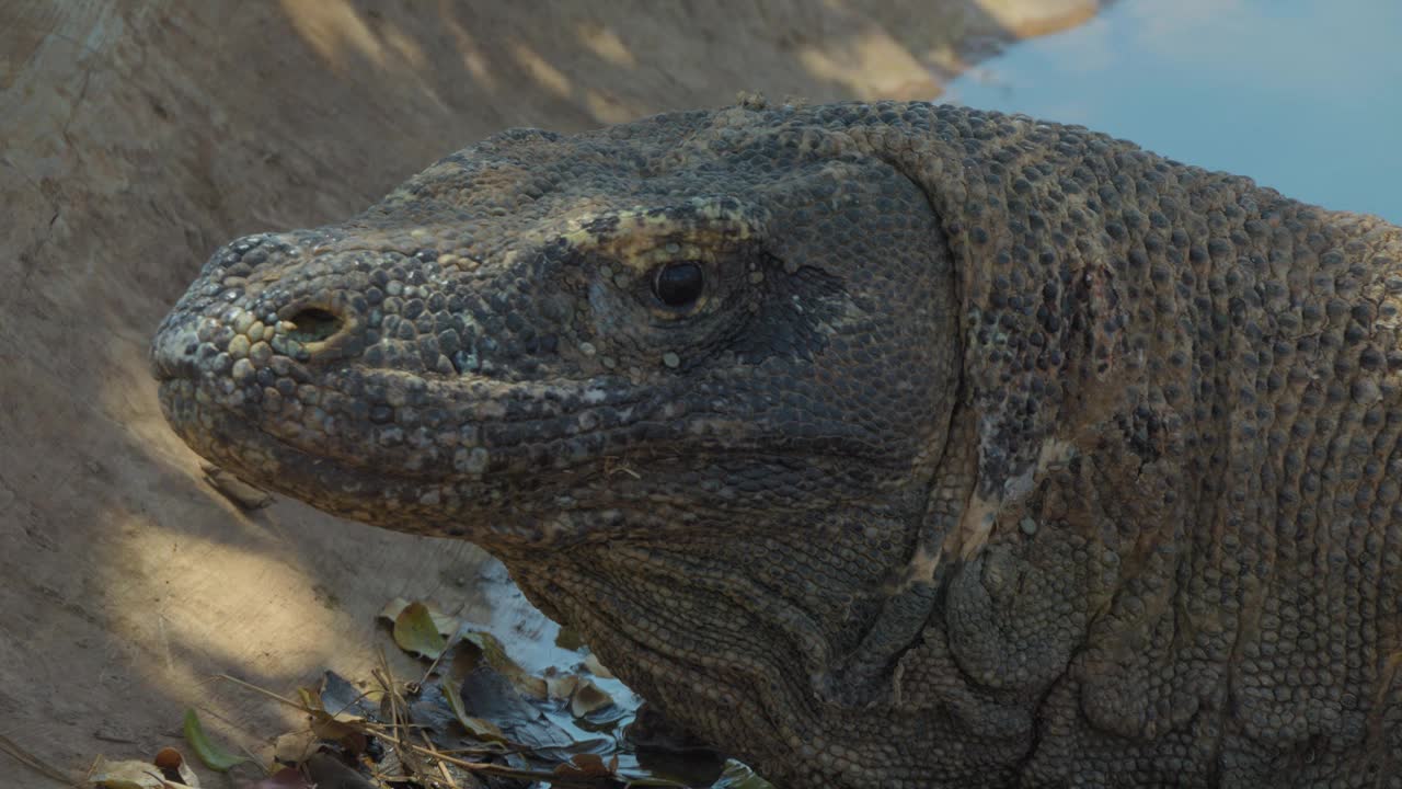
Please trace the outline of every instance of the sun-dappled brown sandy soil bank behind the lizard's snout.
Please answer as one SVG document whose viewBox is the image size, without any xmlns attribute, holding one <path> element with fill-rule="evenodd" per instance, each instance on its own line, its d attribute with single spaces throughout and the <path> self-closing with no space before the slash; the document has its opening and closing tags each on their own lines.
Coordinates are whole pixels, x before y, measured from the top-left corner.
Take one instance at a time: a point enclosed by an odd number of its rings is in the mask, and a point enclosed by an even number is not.
<svg viewBox="0 0 1402 789">
<path fill-rule="evenodd" d="M 290 501 L 245 514 L 202 482 L 146 343 L 219 243 L 341 219 L 506 126 L 576 131 L 737 90 L 934 97 L 1000 42 L 1094 11 L 0 0 L 0 736 L 81 771 L 178 740 L 199 705 L 257 745 L 278 712 L 209 678 L 285 692 L 325 667 L 362 675 L 390 597 L 541 625 L 467 543 Z M 49 785 L 7 757 L 0 771 Z"/>
</svg>

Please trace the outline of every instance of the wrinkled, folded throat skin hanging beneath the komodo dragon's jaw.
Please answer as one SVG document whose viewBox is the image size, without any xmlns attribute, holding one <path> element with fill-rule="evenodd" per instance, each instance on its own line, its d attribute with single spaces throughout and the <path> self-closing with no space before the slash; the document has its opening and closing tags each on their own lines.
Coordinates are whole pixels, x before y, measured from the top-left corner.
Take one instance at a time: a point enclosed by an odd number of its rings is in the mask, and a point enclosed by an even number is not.
<svg viewBox="0 0 1402 789">
<path fill-rule="evenodd" d="M 673 720 L 771 779 L 871 786 L 890 769 L 948 774 L 972 740 L 952 734 L 938 705 L 897 698 L 892 672 L 913 642 L 892 646 L 880 674 L 864 677 L 871 688 L 847 685 L 920 550 L 928 496 L 928 483 L 913 484 L 803 521 L 740 519 L 697 526 L 684 543 L 620 539 L 503 562 L 534 604 Z M 892 737 L 916 750 L 893 760 Z M 977 751 L 977 765 L 962 764 L 980 781 L 990 757 L 1018 755 Z M 903 761 L 916 754 L 924 767 Z"/>
</svg>

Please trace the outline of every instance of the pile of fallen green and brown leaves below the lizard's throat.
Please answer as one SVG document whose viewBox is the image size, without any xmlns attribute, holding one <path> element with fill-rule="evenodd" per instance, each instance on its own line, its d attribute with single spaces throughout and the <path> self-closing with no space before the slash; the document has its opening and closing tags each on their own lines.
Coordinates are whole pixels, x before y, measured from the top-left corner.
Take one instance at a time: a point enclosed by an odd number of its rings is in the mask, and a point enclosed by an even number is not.
<svg viewBox="0 0 1402 789">
<path fill-rule="evenodd" d="M 536 675 L 491 633 L 422 602 L 395 599 L 380 616 L 395 644 L 426 664 L 421 677 L 391 677 L 383 656 L 360 684 L 328 671 L 296 698 L 223 677 L 300 710 L 306 726 L 276 737 L 271 760 L 258 758 L 227 751 L 186 710 L 189 751 L 238 789 L 771 789 L 740 762 L 677 738 L 652 760 L 670 769 L 644 767 L 655 745 L 625 736 L 635 710 L 600 687 L 613 675 L 592 654 L 572 671 Z M 83 786 L 200 789 L 175 748 L 150 761 L 100 758 Z"/>
</svg>

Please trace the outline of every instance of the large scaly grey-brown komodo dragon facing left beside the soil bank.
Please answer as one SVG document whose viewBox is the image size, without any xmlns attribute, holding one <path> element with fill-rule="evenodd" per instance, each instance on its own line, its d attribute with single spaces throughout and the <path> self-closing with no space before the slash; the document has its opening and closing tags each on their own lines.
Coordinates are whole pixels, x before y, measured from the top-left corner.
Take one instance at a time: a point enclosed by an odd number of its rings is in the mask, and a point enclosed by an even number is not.
<svg viewBox="0 0 1402 789">
<path fill-rule="evenodd" d="M 200 455 L 781 786 L 1402 786 L 1402 229 L 1023 117 L 517 129 L 220 248 Z"/>
</svg>

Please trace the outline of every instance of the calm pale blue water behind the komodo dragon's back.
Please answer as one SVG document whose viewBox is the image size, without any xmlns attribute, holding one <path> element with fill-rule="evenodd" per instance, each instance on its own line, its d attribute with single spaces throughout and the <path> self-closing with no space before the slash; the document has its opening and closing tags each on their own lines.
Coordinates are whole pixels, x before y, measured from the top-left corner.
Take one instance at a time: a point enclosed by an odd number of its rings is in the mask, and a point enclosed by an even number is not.
<svg viewBox="0 0 1402 789">
<path fill-rule="evenodd" d="M 1120 0 L 939 100 L 1082 124 L 1402 223 L 1398 0 Z"/>
</svg>

